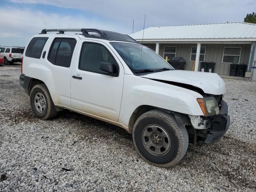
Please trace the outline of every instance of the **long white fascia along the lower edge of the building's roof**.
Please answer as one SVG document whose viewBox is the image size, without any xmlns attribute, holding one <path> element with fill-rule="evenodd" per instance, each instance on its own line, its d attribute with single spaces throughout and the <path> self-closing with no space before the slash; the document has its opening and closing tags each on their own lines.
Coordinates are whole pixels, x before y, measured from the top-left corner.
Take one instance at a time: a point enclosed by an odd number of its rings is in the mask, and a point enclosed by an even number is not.
<svg viewBox="0 0 256 192">
<path fill-rule="evenodd" d="M 140 43 L 234 43 L 248 44 L 256 41 L 256 38 L 218 38 L 218 39 L 136 39 Z"/>
</svg>

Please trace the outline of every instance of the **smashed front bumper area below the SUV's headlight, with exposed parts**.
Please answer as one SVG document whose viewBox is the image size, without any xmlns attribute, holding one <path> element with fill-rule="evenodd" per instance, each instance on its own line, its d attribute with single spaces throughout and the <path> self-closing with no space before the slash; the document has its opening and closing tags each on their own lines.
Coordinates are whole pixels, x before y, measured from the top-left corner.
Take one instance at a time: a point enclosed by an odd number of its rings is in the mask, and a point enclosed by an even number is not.
<svg viewBox="0 0 256 192">
<path fill-rule="evenodd" d="M 223 100 L 220 100 L 219 106 L 220 112 L 215 116 L 189 115 L 192 124 L 192 126 L 188 127 L 190 142 L 210 145 L 226 133 L 230 125 L 228 105 Z"/>
</svg>

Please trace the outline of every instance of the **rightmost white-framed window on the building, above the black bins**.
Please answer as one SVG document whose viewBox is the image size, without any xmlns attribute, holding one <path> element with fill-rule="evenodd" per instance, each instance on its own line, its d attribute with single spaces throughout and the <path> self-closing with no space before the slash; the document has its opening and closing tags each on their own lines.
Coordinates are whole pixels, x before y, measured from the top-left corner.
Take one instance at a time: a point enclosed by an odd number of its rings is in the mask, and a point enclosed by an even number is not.
<svg viewBox="0 0 256 192">
<path fill-rule="evenodd" d="M 242 47 L 224 47 L 222 63 L 239 63 Z"/>
</svg>

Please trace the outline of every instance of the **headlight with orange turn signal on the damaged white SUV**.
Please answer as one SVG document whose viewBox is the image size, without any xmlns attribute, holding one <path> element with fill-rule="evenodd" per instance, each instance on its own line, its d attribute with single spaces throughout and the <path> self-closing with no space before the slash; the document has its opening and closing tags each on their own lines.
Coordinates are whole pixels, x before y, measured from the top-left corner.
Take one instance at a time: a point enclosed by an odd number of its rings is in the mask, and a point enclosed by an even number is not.
<svg viewBox="0 0 256 192">
<path fill-rule="evenodd" d="M 197 102 L 200 105 L 204 116 L 213 116 L 220 113 L 220 108 L 214 97 L 198 98 Z"/>
</svg>

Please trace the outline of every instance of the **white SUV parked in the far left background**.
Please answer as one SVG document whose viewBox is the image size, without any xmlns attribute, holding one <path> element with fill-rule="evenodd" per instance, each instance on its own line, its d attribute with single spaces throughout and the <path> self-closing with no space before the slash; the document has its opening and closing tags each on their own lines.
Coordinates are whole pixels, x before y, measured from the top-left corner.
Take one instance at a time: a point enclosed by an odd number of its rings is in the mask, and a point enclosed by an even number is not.
<svg viewBox="0 0 256 192">
<path fill-rule="evenodd" d="M 21 47 L 5 47 L 4 52 L 1 53 L 4 56 L 4 64 L 13 64 L 15 62 L 21 62 L 24 48 Z"/>
</svg>

